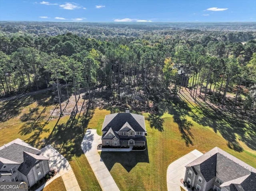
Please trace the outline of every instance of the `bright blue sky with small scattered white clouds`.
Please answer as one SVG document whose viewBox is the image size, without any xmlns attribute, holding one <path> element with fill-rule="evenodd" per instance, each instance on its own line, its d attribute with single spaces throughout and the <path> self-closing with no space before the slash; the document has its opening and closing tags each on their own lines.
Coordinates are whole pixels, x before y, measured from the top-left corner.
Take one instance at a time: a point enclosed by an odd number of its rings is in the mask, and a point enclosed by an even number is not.
<svg viewBox="0 0 256 191">
<path fill-rule="evenodd" d="M 0 0 L 0 20 L 256 22 L 256 0 Z"/>
</svg>

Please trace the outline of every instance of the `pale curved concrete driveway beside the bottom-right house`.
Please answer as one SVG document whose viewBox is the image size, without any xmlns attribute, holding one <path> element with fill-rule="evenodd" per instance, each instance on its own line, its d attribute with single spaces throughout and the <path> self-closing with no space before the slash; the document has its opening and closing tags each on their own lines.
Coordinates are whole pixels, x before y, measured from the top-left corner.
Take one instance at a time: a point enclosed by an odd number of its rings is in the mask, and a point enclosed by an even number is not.
<svg viewBox="0 0 256 191">
<path fill-rule="evenodd" d="M 180 191 L 180 186 L 188 190 L 184 187 L 183 183 L 180 182 L 180 179 L 184 179 L 185 177 L 185 166 L 202 155 L 203 154 L 198 150 L 193 150 L 168 166 L 166 176 L 168 191 Z"/>
</svg>

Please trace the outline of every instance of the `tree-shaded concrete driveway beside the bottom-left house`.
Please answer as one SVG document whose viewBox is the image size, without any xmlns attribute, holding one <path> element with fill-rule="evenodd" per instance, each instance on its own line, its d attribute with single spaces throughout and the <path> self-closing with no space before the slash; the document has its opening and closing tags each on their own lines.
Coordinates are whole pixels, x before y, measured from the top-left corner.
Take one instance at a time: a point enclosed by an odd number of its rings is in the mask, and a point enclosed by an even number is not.
<svg viewBox="0 0 256 191">
<path fill-rule="evenodd" d="M 57 175 L 54 177 L 62 177 L 64 185 L 67 191 L 81 191 L 78 182 L 76 180 L 76 176 L 68 163 L 67 159 L 65 159 L 57 150 L 55 150 L 51 145 L 47 145 L 42 148 L 42 155 L 49 158 L 50 169 L 54 169 L 57 171 Z M 53 178 L 54 178 L 53 177 Z M 56 179 L 55 178 L 55 179 Z M 46 185 L 49 183 L 47 182 Z M 45 186 L 46 186 L 45 185 Z M 54 188 L 58 190 L 58 188 Z"/>
</svg>

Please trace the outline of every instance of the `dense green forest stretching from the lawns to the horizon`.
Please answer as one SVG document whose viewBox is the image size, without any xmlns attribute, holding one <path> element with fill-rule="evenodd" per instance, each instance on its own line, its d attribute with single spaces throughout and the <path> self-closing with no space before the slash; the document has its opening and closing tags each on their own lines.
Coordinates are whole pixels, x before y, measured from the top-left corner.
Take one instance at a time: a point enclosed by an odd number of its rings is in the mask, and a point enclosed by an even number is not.
<svg viewBox="0 0 256 191">
<path fill-rule="evenodd" d="M 0 23 L 0 95 L 95 88 L 128 101 L 190 96 L 248 118 L 256 108 L 256 25 Z M 77 106 L 76 106 L 77 107 Z M 60 104 L 60 114 L 62 108 Z"/>
</svg>

